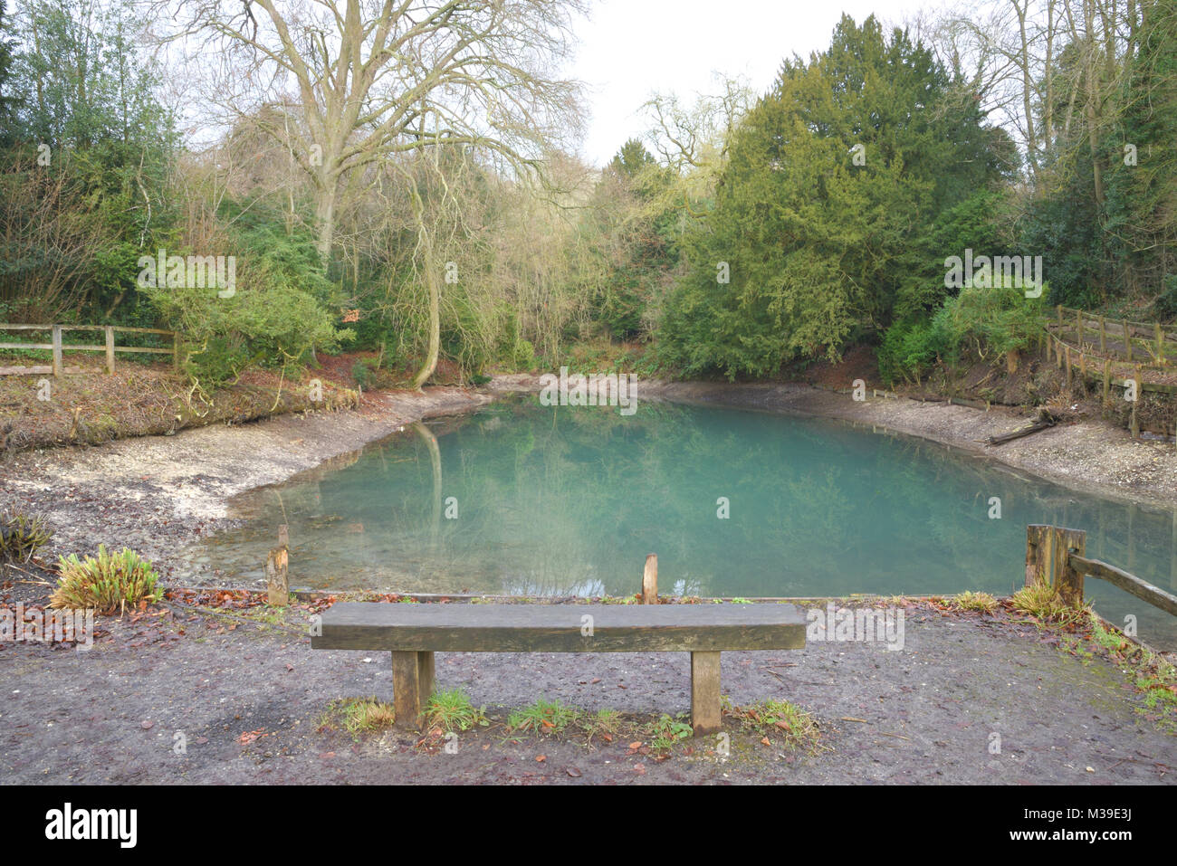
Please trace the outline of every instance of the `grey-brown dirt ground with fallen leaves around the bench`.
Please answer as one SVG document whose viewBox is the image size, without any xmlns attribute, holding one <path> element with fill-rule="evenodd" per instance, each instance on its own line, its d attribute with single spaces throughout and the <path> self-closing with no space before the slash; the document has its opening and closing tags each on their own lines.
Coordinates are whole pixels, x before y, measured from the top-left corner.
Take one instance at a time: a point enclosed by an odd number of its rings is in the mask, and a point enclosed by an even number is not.
<svg viewBox="0 0 1177 866">
<path fill-rule="evenodd" d="M 8 644 L 0 778 L 6 782 L 1173 784 L 1177 737 L 1141 714 L 1106 660 L 1062 651 L 1010 614 L 911 606 L 902 651 L 814 642 L 730 652 L 736 705 L 785 698 L 823 731 L 792 752 L 731 718 L 718 740 L 660 759 L 649 742 L 513 735 L 501 707 L 537 698 L 651 715 L 690 710 L 685 653 L 438 653 L 438 688 L 463 687 L 492 725 L 455 754 L 386 730 L 321 730 L 345 697 L 392 699 L 388 654 L 314 651 L 305 622 L 257 625 L 180 611 L 104 622 L 89 651 Z M 181 740 L 182 738 L 182 740 Z M 624 740 L 624 741 L 623 741 Z M 182 750 L 177 744 L 184 744 Z M 997 750 L 995 751 L 995 744 Z"/>
</svg>

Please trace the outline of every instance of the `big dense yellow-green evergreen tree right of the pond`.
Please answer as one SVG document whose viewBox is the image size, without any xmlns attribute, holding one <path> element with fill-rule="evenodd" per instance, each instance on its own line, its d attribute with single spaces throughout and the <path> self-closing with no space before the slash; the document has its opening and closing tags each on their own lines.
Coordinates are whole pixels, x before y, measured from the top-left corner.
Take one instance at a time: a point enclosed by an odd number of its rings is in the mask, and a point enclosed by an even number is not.
<svg viewBox="0 0 1177 866">
<path fill-rule="evenodd" d="M 957 84 L 873 18 L 843 16 L 826 52 L 785 61 L 732 136 L 714 211 L 687 238 L 692 271 L 667 300 L 664 358 L 686 374 L 770 375 L 837 358 L 897 298 L 926 307 L 911 284 L 944 253 L 913 269 L 913 241 L 998 178 L 992 131 Z"/>
</svg>

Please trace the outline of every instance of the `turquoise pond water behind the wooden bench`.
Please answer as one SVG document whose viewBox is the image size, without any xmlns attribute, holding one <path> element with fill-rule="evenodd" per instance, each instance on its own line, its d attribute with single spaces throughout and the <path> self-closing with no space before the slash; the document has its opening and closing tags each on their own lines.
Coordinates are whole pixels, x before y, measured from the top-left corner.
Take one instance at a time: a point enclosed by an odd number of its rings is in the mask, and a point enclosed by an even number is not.
<svg viewBox="0 0 1177 866">
<path fill-rule="evenodd" d="M 299 587 L 625 595 L 656 552 L 663 593 L 1008 593 L 1024 579 L 1026 525 L 1057 524 L 1088 531 L 1089 557 L 1177 588 L 1170 511 L 870 427 L 710 407 L 497 404 L 234 507 L 246 525 L 189 559 L 259 579 L 288 524 Z M 1143 638 L 1177 645 L 1175 618 L 1100 581 L 1088 594 L 1109 619 L 1133 613 Z"/>
</svg>

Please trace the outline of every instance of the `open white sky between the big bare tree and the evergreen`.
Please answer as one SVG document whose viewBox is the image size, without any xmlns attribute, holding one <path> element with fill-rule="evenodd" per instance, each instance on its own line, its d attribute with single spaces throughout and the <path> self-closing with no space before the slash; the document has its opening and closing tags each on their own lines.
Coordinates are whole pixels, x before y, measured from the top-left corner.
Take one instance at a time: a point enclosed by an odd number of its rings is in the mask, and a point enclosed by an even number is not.
<svg viewBox="0 0 1177 866">
<path fill-rule="evenodd" d="M 830 45 L 842 13 L 862 22 L 875 13 L 902 24 L 943 0 L 596 0 L 580 22 L 570 68 L 587 86 L 590 118 L 581 155 L 607 162 L 626 139 L 646 132 L 639 113 L 653 92 L 713 93 L 712 72 L 744 75 L 756 91 L 780 62 Z"/>
</svg>

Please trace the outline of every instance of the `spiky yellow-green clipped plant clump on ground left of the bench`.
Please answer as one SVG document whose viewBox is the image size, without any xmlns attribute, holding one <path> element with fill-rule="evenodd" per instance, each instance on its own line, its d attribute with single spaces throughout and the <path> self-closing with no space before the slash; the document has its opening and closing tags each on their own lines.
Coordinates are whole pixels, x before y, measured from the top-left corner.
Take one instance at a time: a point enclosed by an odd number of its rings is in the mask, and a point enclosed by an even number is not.
<svg viewBox="0 0 1177 866">
<path fill-rule="evenodd" d="M 151 562 L 126 547 L 121 553 L 109 553 L 99 545 L 97 559 L 79 560 L 78 554 L 62 557 L 59 571 L 61 577 L 49 597 L 51 607 L 114 613 L 127 605 L 158 601 L 162 595 L 157 586 L 159 575 Z"/>
</svg>

